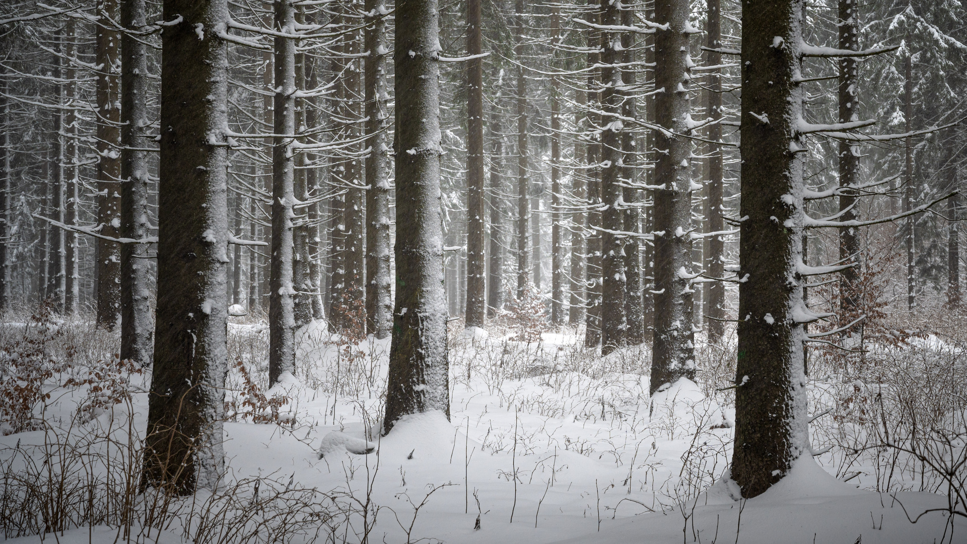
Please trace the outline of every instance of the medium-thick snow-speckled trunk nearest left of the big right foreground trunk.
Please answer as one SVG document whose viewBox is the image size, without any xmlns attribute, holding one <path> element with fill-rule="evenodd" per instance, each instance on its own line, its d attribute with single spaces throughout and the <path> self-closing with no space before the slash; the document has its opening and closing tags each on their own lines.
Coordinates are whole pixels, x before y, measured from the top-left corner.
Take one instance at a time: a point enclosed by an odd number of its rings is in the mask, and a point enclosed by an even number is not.
<svg viewBox="0 0 967 544">
<path fill-rule="evenodd" d="M 691 141 L 689 134 L 689 1 L 658 2 L 655 35 L 657 125 L 675 136 L 656 135 L 655 345 L 651 392 L 679 378 L 693 379 L 695 361 L 691 280 Z M 682 136 L 677 136 L 682 135 Z M 695 186 L 697 188 L 697 186 Z"/>
</svg>

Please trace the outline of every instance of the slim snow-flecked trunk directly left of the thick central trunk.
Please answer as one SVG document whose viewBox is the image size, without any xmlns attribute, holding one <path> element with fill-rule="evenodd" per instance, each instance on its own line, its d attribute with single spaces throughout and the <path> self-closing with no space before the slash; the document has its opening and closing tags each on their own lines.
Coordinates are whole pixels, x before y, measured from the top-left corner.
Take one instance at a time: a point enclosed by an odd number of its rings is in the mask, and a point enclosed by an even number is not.
<svg viewBox="0 0 967 544">
<path fill-rule="evenodd" d="M 366 333 L 383 339 L 393 326 L 390 276 L 390 123 L 386 0 L 366 2 Z M 483 213 L 483 212 L 482 212 Z"/>
</svg>

